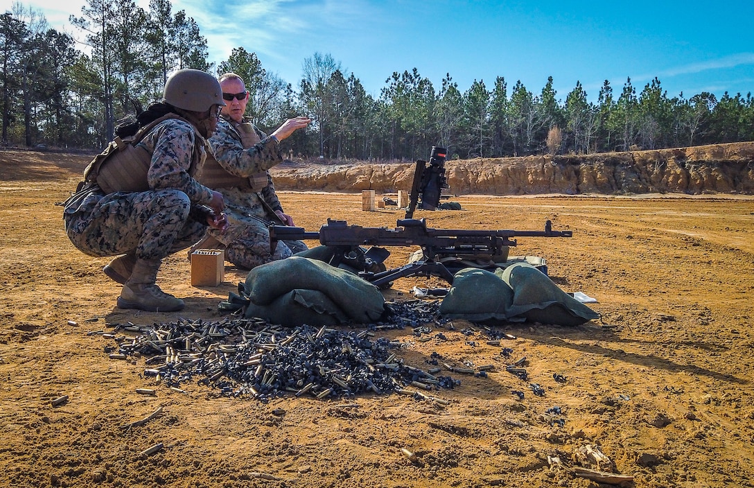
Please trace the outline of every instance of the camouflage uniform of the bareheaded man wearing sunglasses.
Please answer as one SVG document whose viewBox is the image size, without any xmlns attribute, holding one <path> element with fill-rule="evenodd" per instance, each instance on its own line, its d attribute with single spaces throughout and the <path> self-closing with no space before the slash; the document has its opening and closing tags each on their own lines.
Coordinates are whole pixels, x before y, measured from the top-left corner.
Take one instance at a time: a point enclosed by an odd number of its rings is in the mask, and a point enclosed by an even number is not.
<svg viewBox="0 0 754 488">
<path fill-rule="evenodd" d="M 290 257 L 307 247 L 302 241 L 280 241 L 274 252 L 270 252 L 268 226 L 271 221 L 277 222 L 274 211 L 282 211 L 283 207 L 275 194 L 268 170 L 282 162 L 283 156 L 277 142 L 254 126 L 259 143 L 244 149 L 239 125 L 231 118 L 222 116 L 215 134 L 207 140 L 214 158 L 222 169 L 241 178 L 265 172 L 267 184 L 259 192 L 243 186 L 213 188 L 221 192 L 225 199 L 229 225 L 224 232 L 208 229 L 207 234 L 225 244 L 225 258 L 228 261 L 239 268 L 252 269 L 265 262 Z M 201 174 L 198 180 L 204 181 Z"/>
</svg>

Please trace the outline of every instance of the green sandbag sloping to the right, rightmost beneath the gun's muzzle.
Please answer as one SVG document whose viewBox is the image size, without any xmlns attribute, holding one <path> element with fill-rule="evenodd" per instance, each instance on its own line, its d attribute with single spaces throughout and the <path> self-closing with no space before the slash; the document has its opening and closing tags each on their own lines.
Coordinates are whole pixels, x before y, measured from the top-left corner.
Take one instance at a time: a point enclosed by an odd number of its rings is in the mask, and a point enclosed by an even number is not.
<svg viewBox="0 0 754 488">
<path fill-rule="evenodd" d="M 495 275 L 513 290 L 513 302 L 507 310 L 510 317 L 520 316 L 530 322 L 570 327 L 599 318 L 599 314 L 560 290 L 532 265 L 517 263 L 498 269 Z"/>
</svg>

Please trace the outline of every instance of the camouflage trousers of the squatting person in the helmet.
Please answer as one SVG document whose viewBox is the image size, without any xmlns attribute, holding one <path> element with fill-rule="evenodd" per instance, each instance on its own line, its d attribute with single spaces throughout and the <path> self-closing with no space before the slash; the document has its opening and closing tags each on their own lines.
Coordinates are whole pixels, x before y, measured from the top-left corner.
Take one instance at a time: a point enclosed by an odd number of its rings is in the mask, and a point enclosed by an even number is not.
<svg viewBox="0 0 754 488">
<path fill-rule="evenodd" d="M 66 234 L 89 256 L 135 253 L 138 259 L 162 259 L 204 235 L 207 225 L 189 218 L 191 206 L 177 189 L 111 193 L 76 211 L 66 209 Z"/>
</svg>

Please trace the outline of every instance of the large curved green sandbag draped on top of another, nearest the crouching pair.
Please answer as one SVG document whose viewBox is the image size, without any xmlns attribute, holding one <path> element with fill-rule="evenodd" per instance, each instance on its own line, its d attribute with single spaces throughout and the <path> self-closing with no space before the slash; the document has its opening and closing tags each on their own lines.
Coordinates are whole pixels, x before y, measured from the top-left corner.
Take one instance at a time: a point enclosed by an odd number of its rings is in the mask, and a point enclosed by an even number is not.
<svg viewBox="0 0 754 488">
<path fill-rule="evenodd" d="M 369 281 L 301 256 L 256 266 L 247 275 L 245 288 L 255 305 L 270 305 L 291 290 L 318 290 L 358 324 L 378 321 L 385 312 L 385 298 Z"/>
</svg>

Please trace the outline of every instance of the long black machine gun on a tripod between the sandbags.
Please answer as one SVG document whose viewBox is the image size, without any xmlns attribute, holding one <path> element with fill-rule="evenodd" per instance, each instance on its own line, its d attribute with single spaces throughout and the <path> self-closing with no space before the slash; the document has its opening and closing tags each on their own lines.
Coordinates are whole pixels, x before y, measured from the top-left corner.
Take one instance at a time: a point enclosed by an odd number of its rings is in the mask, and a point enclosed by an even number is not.
<svg viewBox="0 0 754 488">
<path fill-rule="evenodd" d="M 425 219 L 399 219 L 396 229 L 348 226 L 345 220 L 333 219 L 327 219 L 319 232 L 289 226 L 270 226 L 269 229 L 272 250 L 277 241 L 318 239 L 320 244 L 333 249 L 330 265 L 340 265 L 345 259 L 356 263 L 354 267 L 359 270 L 361 278 L 378 287 L 409 276 L 439 276 L 452 284 L 453 273 L 441 261 L 443 257 L 504 262 L 508 247 L 516 246 L 513 238 L 572 237 L 571 231 L 554 231 L 550 220 L 545 223 L 544 231 L 428 229 Z M 372 247 L 364 250 L 364 245 Z M 382 246 L 419 246 L 422 256 L 399 268 L 385 269 L 383 266 L 384 271 L 375 272 L 375 264 L 382 264 L 390 255 Z"/>
</svg>

